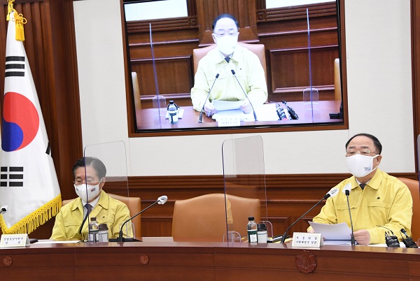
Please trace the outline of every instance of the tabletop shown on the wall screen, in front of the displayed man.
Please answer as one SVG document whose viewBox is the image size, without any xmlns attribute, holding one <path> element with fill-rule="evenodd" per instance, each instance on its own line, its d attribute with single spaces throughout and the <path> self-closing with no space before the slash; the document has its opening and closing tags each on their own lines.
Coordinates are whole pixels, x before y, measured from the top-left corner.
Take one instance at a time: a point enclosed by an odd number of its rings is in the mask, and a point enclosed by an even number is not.
<svg viewBox="0 0 420 281">
<path fill-rule="evenodd" d="M 279 103 L 283 108 L 283 103 Z M 288 106 L 295 110 L 299 116 L 298 120 L 262 120 L 263 111 L 271 111 L 276 116 L 276 103 L 266 103 L 262 108 L 255 109 L 258 114 L 258 121 L 240 122 L 240 126 L 248 127 L 266 127 L 266 126 L 298 126 L 302 124 L 328 124 L 342 122 L 342 119 L 331 119 L 330 113 L 338 113 L 341 101 L 316 101 L 314 106 L 308 105 L 303 101 L 290 101 Z M 166 119 L 166 108 L 142 108 L 136 112 L 137 130 L 155 130 L 155 129 L 209 129 L 218 127 L 216 120 L 202 115 L 202 123 L 199 123 L 200 113 L 194 110 L 193 106 L 182 106 L 183 117 L 179 119 L 178 124 L 169 124 Z M 158 114 L 160 112 L 160 114 Z"/>
</svg>

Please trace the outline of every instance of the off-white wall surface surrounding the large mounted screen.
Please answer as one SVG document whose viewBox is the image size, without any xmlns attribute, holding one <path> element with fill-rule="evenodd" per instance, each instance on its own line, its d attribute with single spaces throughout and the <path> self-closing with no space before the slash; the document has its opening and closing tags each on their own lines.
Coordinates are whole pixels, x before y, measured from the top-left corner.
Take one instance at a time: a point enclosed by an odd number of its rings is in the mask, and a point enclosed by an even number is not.
<svg viewBox="0 0 420 281">
<path fill-rule="evenodd" d="M 249 135 L 128 138 L 120 0 L 73 5 L 83 145 L 124 141 L 128 175 L 223 174 L 223 141 Z M 360 132 L 384 145 L 384 171 L 415 171 L 409 0 L 345 5 L 349 130 L 260 134 L 267 174 L 346 173 L 344 143 Z"/>
</svg>

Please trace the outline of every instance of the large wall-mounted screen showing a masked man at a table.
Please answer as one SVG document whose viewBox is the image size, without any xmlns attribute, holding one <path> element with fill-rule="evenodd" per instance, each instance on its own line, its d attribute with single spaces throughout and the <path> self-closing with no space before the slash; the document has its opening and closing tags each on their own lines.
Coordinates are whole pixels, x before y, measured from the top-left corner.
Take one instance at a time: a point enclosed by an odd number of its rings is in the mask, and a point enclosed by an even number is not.
<svg viewBox="0 0 420 281">
<path fill-rule="evenodd" d="M 132 20 L 151 2 L 125 3 L 134 133 L 345 124 L 338 0 L 228 12 L 186 1 L 188 16 Z M 235 18 L 214 22 L 221 10 Z"/>
</svg>

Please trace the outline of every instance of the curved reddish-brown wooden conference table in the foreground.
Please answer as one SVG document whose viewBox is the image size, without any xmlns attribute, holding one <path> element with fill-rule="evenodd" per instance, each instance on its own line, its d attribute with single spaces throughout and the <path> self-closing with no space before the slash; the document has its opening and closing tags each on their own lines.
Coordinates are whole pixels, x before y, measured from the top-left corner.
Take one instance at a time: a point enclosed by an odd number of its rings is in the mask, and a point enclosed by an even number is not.
<svg viewBox="0 0 420 281">
<path fill-rule="evenodd" d="M 35 243 L 0 249 L 0 280 L 420 280 L 420 249 L 291 243 Z"/>
</svg>

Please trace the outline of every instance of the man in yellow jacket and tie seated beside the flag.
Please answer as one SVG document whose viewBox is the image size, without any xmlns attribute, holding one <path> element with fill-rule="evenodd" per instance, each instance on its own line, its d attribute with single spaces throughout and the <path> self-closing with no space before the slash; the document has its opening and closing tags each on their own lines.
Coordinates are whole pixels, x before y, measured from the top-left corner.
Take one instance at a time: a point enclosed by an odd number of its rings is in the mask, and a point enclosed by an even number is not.
<svg viewBox="0 0 420 281">
<path fill-rule="evenodd" d="M 85 240 L 90 217 L 108 226 L 108 237 L 117 238 L 120 226 L 130 219 L 125 203 L 111 198 L 102 188 L 105 185 L 106 167 L 94 157 L 83 157 L 73 165 L 74 189 L 79 196 L 63 206 L 55 217 L 50 239 Z M 132 237 L 131 224 L 126 224 L 123 236 Z"/>
</svg>

